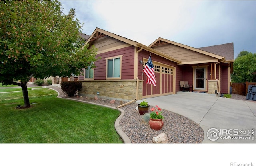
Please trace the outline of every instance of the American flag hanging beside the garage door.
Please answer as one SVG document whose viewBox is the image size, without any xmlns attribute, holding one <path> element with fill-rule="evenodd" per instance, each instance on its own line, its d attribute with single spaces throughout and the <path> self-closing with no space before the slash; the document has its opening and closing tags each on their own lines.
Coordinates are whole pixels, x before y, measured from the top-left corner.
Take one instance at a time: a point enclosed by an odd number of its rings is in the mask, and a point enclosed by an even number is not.
<svg viewBox="0 0 256 166">
<path fill-rule="evenodd" d="M 151 55 L 149 55 L 148 62 L 143 68 L 143 72 L 148 76 L 147 84 L 153 84 L 154 86 L 156 86 L 156 76 L 154 73 L 154 66 L 151 60 Z"/>
</svg>

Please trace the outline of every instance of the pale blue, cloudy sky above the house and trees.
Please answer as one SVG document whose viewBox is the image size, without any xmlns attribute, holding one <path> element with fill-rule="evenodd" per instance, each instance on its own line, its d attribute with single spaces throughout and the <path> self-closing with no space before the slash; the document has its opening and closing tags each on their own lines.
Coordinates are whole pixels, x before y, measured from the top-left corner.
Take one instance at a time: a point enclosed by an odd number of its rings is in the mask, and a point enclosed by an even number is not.
<svg viewBox="0 0 256 166">
<path fill-rule="evenodd" d="M 60 0 L 91 35 L 96 27 L 150 45 L 158 37 L 194 48 L 234 43 L 256 53 L 256 1 Z"/>
</svg>

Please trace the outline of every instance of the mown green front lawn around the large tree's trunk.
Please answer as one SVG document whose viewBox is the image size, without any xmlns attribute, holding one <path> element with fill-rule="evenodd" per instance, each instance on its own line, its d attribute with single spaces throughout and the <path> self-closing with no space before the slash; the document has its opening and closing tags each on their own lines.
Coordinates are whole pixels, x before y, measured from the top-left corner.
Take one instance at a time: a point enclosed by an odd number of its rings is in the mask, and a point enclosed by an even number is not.
<svg viewBox="0 0 256 166">
<path fill-rule="evenodd" d="M 29 91 L 34 104 L 16 109 L 23 98 L 10 98 L 22 92 L 7 94 L 0 94 L 0 143 L 123 143 L 114 128 L 118 110 L 56 98 L 48 88 Z"/>
</svg>

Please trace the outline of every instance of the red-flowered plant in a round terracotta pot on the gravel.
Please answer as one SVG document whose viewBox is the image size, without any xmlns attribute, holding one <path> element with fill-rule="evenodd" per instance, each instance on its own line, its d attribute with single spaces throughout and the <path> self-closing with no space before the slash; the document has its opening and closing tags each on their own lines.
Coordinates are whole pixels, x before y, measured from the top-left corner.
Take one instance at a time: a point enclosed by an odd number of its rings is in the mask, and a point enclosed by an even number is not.
<svg viewBox="0 0 256 166">
<path fill-rule="evenodd" d="M 149 126 L 153 130 L 160 130 L 162 129 L 164 122 L 162 121 L 164 119 L 164 116 L 161 115 L 162 112 L 161 108 L 156 105 L 156 107 L 153 107 L 150 109 L 150 113 L 145 113 L 142 116 L 142 119 L 146 122 L 148 122 Z"/>
</svg>

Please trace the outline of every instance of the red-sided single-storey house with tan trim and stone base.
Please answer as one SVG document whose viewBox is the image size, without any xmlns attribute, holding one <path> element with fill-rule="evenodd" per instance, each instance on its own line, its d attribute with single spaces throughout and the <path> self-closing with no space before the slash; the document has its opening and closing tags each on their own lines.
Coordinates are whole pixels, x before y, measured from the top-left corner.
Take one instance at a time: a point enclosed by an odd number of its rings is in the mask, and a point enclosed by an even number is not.
<svg viewBox="0 0 256 166">
<path fill-rule="evenodd" d="M 78 76 L 83 84 L 78 95 L 141 100 L 176 94 L 180 91 L 180 81 L 193 84 L 194 91 L 229 93 L 234 58 L 225 59 L 225 53 L 213 53 L 217 46 L 196 49 L 162 38 L 146 46 L 99 28 L 86 43 L 98 48 L 96 57 L 101 59 L 95 62 L 96 68 L 84 69 Z M 234 50 L 233 43 L 227 45 L 228 50 Z M 142 72 L 150 54 L 156 87 L 146 84 Z"/>
</svg>

